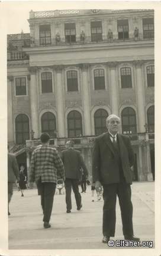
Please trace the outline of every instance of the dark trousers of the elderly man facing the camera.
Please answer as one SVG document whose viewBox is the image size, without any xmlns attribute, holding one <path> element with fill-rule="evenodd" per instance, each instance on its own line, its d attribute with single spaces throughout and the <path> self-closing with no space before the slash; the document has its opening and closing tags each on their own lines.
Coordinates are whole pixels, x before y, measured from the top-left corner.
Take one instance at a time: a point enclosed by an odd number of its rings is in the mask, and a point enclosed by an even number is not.
<svg viewBox="0 0 161 256">
<path fill-rule="evenodd" d="M 120 183 L 104 185 L 103 207 L 103 235 L 115 236 L 116 213 L 115 206 L 118 196 L 121 219 L 123 223 L 123 235 L 133 235 L 133 205 L 131 202 L 131 187 L 121 177 Z"/>
</svg>

